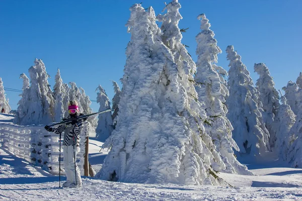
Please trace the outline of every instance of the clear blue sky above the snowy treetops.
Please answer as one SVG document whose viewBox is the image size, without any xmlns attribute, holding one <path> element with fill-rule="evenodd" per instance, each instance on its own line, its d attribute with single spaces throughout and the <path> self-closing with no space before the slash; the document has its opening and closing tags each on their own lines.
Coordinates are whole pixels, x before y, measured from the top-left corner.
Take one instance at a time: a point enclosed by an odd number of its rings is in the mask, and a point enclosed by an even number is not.
<svg viewBox="0 0 302 201">
<path fill-rule="evenodd" d="M 183 20 L 183 43 L 196 61 L 195 36 L 200 31 L 197 16 L 205 13 L 220 49 L 218 64 L 229 70 L 225 48 L 234 45 L 256 83 L 254 63 L 266 63 L 281 89 L 302 71 L 301 0 L 179 0 Z M 74 81 L 96 99 L 101 84 L 112 99 L 112 82 L 123 76 L 125 48 L 130 40 L 125 24 L 129 7 L 142 3 L 156 15 L 164 0 L 0 1 L 0 77 L 4 87 L 22 88 L 21 73 L 35 58 L 43 59 L 54 85 L 57 68 L 63 82 Z M 167 1 L 169 3 L 169 1 Z M 7 91 L 12 109 L 17 109 L 18 92 Z M 98 110 L 96 103 L 92 104 Z"/>
</svg>

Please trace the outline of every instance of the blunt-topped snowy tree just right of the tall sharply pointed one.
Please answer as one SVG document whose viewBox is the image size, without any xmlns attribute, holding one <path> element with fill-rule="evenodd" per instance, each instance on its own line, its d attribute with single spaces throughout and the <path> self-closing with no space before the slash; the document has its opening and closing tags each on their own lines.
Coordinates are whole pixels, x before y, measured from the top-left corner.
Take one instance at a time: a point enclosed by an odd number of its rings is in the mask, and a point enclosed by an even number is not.
<svg viewBox="0 0 302 201">
<path fill-rule="evenodd" d="M 255 63 L 254 69 L 255 72 L 259 74 L 259 79 L 257 79 L 256 86 L 260 93 L 259 99 L 263 105 L 262 119 L 270 134 L 270 146 L 274 147 L 276 141 L 276 130 L 273 127 L 273 122 L 280 106 L 279 94 L 275 88 L 273 77 L 270 76 L 266 65 L 264 63 Z"/>
</svg>

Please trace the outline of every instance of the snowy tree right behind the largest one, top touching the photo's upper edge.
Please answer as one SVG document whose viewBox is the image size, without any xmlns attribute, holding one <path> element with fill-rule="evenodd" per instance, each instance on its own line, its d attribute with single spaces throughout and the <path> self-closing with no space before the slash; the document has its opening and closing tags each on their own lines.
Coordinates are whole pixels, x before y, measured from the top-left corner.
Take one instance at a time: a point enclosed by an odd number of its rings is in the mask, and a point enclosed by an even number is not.
<svg viewBox="0 0 302 201">
<path fill-rule="evenodd" d="M 184 96 L 187 96 L 185 93 L 188 93 L 189 105 L 192 105 L 191 102 L 193 100 L 198 102 L 198 96 L 193 85 L 193 74 L 196 71 L 196 65 L 185 46 L 181 43 L 182 34 L 178 27 L 179 21 L 182 19 L 182 16 L 179 13 L 180 8 L 181 5 L 178 3 L 178 1 L 173 0 L 163 10 L 163 12 L 167 10 L 167 13 L 165 15 L 159 15 L 157 19 L 160 22 L 163 22 L 161 28 L 163 34 L 161 38 L 164 44 L 172 51 L 172 54 L 174 55 L 174 62 L 176 63 L 178 69 L 177 81 L 180 85 L 181 92 L 184 93 Z M 201 107 L 201 104 L 199 107 Z M 205 118 L 207 117 L 205 116 Z M 207 146 L 210 147 L 210 150 L 215 150 L 214 146 L 210 144 Z M 219 154 L 216 151 L 213 151 L 212 154 L 214 156 L 211 159 L 213 169 L 216 171 L 224 170 L 225 165 L 223 164 Z"/>
</svg>

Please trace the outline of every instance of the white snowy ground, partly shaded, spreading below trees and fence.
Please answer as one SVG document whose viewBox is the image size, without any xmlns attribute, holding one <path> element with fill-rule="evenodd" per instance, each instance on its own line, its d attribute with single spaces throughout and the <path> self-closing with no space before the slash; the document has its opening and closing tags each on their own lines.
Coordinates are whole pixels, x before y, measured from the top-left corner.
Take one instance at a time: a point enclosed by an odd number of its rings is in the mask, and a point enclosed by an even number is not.
<svg viewBox="0 0 302 201">
<path fill-rule="evenodd" d="M 11 119 L 0 115 L 3 120 Z M 89 161 L 98 171 L 108 152 L 100 151 L 102 143 L 93 140 L 93 133 L 90 137 Z M 234 187 L 136 184 L 83 177 L 82 188 L 59 188 L 58 176 L 0 147 L 0 200 L 302 200 L 302 169 L 282 167 L 277 162 L 248 167 L 254 176 L 219 174 Z"/>
</svg>

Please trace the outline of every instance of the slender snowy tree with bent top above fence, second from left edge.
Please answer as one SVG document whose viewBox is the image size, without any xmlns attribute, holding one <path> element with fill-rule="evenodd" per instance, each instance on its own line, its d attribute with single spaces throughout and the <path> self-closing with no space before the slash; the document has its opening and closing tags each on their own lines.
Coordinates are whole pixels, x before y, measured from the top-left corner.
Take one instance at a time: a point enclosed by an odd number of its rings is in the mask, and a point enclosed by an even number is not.
<svg viewBox="0 0 302 201">
<path fill-rule="evenodd" d="M 29 103 L 29 94 L 30 94 L 30 84 L 29 79 L 26 74 L 22 73 L 19 78 L 23 79 L 22 93 L 19 95 L 21 99 L 18 102 L 18 109 L 16 113 L 16 118 L 14 119 L 14 124 L 22 124 L 24 117 L 28 112 L 27 104 Z"/>
</svg>

